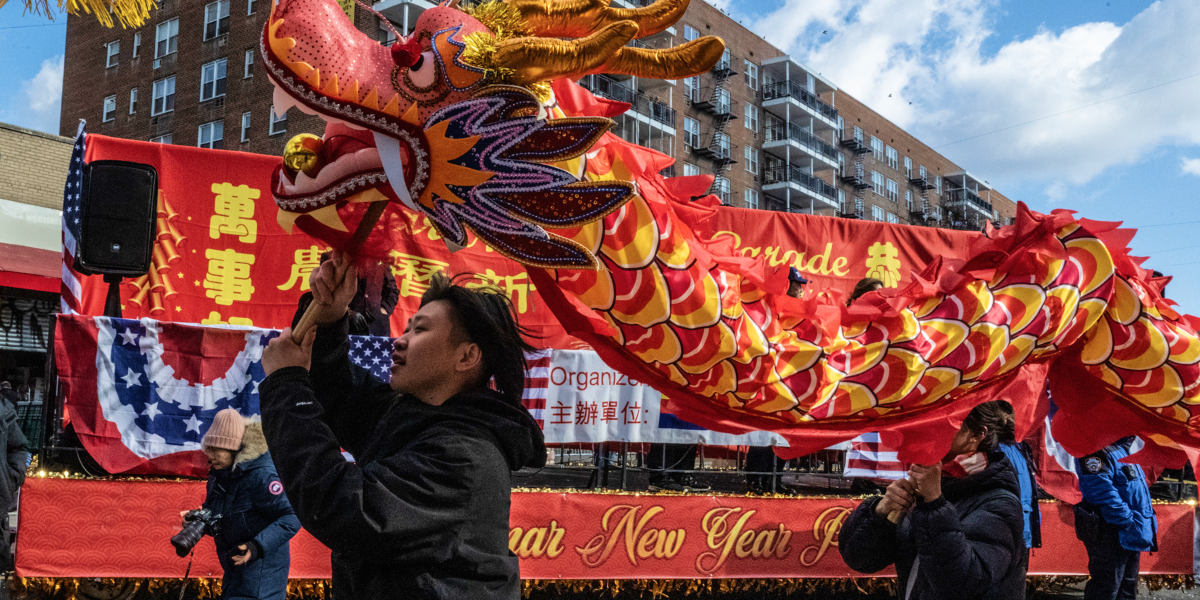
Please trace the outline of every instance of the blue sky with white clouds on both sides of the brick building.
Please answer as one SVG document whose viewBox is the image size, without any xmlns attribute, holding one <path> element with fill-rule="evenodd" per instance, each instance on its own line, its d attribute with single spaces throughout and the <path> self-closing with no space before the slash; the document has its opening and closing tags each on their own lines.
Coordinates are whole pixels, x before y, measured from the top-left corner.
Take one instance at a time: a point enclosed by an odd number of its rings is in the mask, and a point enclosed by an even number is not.
<svg viewBox="0 0 1200 600">
<path fill-rule="evenodd" d="M 1200 2 L 712 4 L 1009 198 L 1140 228 L 1135 253 L 1200 314 Z M 58 133 L 65 35 L 0 8 L 0 121 Z"/>
</svg>

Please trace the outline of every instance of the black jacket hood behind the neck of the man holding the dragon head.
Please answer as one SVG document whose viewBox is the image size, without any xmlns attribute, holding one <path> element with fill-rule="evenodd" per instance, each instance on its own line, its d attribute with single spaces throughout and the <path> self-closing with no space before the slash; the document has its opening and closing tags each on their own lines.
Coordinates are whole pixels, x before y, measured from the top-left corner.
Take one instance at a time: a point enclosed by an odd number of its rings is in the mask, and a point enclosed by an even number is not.
<svg viewBox="0 0 1200 600">
<path fill-rule="evenodd" d="M 509 468 L 546 466 L 546 439 L 541 427 L 523 406 L 514 406 L 490 389 L 461 391 L 434 407 L 408 396 L 418 416 L 409 427 L 425 428 L 439 421 L 463 421 L 490 431 L 498 442 Z M 406 428 L 409 428 L 406 427 Z"/>
</svg>

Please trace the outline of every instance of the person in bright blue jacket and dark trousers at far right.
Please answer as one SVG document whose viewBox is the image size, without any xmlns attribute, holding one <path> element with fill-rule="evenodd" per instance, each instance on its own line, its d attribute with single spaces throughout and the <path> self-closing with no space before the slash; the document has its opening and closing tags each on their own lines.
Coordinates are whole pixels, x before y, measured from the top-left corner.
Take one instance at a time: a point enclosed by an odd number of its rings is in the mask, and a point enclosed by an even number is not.
<svg viewBox="0 0 1200 600">
<path fill-rule="evenodd" d="M 1085 600 L 1138 596 L 1141 553 L 1157 550 L 1158 518 L 1146 473 L 1123 464 L 1132 437 L 1075 460 L 1084 502 L 1075 506 L 1075 534 L 1087 548 L 1091 577 Z"/>
</svg>

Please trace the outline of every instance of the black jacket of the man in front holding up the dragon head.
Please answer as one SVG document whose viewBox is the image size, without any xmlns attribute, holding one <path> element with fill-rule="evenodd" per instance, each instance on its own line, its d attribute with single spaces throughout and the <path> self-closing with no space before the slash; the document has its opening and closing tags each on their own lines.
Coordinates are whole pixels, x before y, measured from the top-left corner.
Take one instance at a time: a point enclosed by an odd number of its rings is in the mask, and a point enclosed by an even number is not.
<svg viewBox="0 0 1200 600">
<path fill-rule="evenodd" d="M 347 326 L 318 330 L 311 377 L 281 368 L 260 386 L 288 498 L 334 551 L 335 594 L 520 598 L 509 494 L 511 472 L 545 464 L 536 421 L 487 389 L 439 407 L 398 396 L 349 364 Z"/>
</svg>

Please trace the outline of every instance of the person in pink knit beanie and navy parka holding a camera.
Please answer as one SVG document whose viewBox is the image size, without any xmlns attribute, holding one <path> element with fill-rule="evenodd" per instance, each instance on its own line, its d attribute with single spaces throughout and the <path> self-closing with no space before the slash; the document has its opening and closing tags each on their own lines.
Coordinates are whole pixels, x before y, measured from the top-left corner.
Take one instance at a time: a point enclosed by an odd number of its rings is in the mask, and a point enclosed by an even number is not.
<svg viewBox="0 0 1200 600">
<path fill-rule="evenodd" d="M 248 422 L 233 408 L 221 410 L 203 446 L 211 466 L 203 508 L 221 516 L 214 533 L 224 570 L 221 598 L 286 600 L 288 541 L 300 520 L 266 451 L 262 422 Z"/>
</svg>

